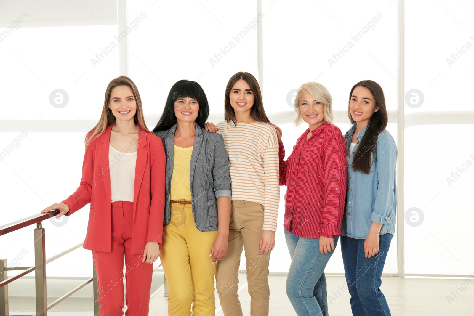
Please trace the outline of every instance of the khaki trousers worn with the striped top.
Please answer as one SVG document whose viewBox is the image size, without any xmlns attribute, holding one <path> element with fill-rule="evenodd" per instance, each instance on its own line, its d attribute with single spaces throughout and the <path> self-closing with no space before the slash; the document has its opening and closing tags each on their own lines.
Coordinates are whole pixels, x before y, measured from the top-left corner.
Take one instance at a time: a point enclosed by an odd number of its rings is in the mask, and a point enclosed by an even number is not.
<svg viewBox="0 0 474 316">
<path fill-rule="evenodd" d="M 270 289 L 268 288 L 268 264 L 270 253 L 260 255 L 259 243 L 264 224 L 264 208 L 261 204 L 244 200 L 232 200 L 229 225 L 229 250 L 218 262 L 216 288 L 220 306 L 225 316 L 243 316 L 238 299 L 238 270 L 240 255 L 245 249 L 250 315 L 268 315 Z"/>
</svg>

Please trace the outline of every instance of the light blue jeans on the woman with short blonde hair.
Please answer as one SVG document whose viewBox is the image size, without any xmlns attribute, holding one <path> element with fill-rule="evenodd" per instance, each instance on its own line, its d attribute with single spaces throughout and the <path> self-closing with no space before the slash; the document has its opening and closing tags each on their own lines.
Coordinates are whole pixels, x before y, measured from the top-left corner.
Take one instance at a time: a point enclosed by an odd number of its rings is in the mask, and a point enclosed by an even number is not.
<svg viewBox="0 0 474 316">
<path fill-rule="evenodd" d="M 285 230 L 286 244 L 292 257 L 286 279 L 286 295 L 298 316 L 328 316 L 328 293 L 324 268 L 334 253 L 319 252 L 319 238 L 293 235 Z M 338 236 L 334 237 L 334 247 Z"/>
</svg>

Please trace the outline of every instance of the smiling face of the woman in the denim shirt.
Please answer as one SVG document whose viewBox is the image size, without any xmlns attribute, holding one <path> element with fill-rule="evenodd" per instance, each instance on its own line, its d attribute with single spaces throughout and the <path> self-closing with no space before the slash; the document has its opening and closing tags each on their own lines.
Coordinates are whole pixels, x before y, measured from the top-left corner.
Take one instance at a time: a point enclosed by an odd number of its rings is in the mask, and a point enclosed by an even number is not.
<svg viewBox="0 0 474 316">
<path fill-rule="evenodd" d="M 375 98 L 370 90 L 358 86 L 352 91 L 349 109 L 352 119 L 357 123 L 357 126 L 362 125 L 365 127 L 372 115 L 374 115 L 374 112 L 379 110 L 379 107 L 375 105 Z"/>
</svg>

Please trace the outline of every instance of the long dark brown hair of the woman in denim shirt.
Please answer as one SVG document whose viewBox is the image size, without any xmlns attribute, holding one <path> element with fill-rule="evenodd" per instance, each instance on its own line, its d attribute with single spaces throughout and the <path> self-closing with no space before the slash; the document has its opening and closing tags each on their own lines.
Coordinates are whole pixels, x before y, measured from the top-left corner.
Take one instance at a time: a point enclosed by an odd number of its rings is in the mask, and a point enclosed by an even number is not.
<svg viewBox="0 0 474 316">
<path fill-rule="evenodd" d="M 352 93 L 357 87 L 364 87 L 369 89 L 370 93 L 372 93 L 375 99 L 375 108 L 379 108 L 377 112 L 374 112 L 374 114 L 369 120 L 364 136 L 362 137 L 359 142 L 359 145 L 357 146 L 356 157 L 354 158 L 354 161 L 352 163 L 352 168 L 354 171 L 369 173 L 370 167 L 376 159 L 378 135 L 385 129 L 385 127 L 387 127 L 388 115 L 387 108 L 385 107 L 385 97 L 383 95 L 382 87 L 375 81 L 363 80 L 357 82 L 354 87 L 352 87 L 351 93 L 349 94 L 349 105 L 347 107 L 347 115 L 349 116 L 349 120 L 352 124 L 356 122 L 352 119 L 350 103 L 352 99 Z M 372 156 L 374 157 L 374 160 L 371 159 Z"/>
</svg>

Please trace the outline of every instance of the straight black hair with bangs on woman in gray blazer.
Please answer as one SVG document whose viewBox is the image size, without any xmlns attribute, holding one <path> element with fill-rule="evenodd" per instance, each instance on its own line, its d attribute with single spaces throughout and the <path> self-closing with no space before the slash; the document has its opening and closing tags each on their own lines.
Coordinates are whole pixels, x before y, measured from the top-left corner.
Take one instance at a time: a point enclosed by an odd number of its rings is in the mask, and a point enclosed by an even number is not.
<svg viewBox="0 0 474 316">
<path fill-rule="evenodd" d="M 160 120 L 156 124 L 153 132 L 166 131 L 173 127 L 178 122 L 178 119 L 174 115 L 174 100 L 178 98 L 191 98 L 196 99 L 199 104 L 198 117 L 196 117 L 196 123 L 204 128 L 204 124 L 209 116 L 209 103 L 206 97 L 206 93 L 202 90 L 202 87 L 196 81 L 180 80 L 173 84 L 171 87 L 166 104 L 164 105 L 163 114 Z"/>
</svg>

